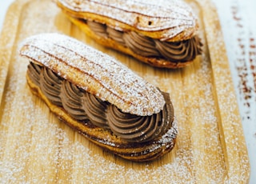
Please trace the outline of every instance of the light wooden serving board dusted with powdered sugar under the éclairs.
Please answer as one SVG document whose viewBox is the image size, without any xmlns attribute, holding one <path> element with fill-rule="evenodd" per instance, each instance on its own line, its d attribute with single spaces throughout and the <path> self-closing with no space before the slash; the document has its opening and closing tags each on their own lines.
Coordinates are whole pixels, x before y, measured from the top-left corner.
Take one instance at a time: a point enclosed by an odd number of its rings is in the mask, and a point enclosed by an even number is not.
<svg viewBox="0 0 256 184">
<path fill-rule="evenodd" d="M 203 54 L 178 70 L 156 69 L 99 46 L 50 0 L 17 0 L 0 38 L 0 180 L 72 183 L 245 183 L 250 166 L 218 14 L 210 0 L 188 0 L 198 14 Z M 26 85 L 18 45 L 30 35 L 78 38 L 170 93 L 178 118 L 174 150 L 129 162 L 75 133 Z"/>
</svg>

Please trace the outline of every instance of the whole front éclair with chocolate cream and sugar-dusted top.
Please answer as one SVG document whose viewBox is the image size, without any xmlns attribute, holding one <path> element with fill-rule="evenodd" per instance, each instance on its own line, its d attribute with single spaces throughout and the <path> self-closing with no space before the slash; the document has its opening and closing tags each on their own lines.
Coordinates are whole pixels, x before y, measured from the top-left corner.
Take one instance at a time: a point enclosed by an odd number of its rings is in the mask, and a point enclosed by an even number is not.
<svg viewBox="0 0 256 184">
<path fill-rule="evenodd" d="M 114 58 L 62 34 L 22 43 L 30 89 L 63 122 L 122 158 L 148 161 L 173 149 L 177 121 L 169 94 Z"/>
</svg>

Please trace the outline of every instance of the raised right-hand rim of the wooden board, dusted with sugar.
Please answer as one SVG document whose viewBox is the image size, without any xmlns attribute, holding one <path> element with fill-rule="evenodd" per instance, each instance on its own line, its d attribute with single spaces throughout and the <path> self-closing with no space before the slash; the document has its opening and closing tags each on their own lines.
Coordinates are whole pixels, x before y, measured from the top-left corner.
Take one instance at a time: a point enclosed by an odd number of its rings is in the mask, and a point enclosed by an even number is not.
<svg viewBox="0 0 256 184">
<path fill-rule="evenodd" d="M 248 183 L 250 162 L 218 12 L 210 0 L 196 1 L 202 9 L 213 71 L 214 93 L 218 99 L 218 114 L 221 119 L 218 127 L 228 171 L 226 182 L 238 178 L 238 183 Z"/>
</svg>

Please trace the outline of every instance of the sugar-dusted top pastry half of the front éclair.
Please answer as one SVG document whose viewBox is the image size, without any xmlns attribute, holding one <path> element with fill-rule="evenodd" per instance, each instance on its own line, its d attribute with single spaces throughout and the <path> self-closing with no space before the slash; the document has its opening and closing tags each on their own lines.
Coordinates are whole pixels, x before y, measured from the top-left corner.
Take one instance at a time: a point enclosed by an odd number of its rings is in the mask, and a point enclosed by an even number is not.
<svg viewBox="0 0 256 184">
<path fill-rule="evenodd" d="M 63 34 L 26 38 L 20 54 L 125 113 L 152 115 L 165 105 L 157 87 L 109 55 Z"/>
</svg>

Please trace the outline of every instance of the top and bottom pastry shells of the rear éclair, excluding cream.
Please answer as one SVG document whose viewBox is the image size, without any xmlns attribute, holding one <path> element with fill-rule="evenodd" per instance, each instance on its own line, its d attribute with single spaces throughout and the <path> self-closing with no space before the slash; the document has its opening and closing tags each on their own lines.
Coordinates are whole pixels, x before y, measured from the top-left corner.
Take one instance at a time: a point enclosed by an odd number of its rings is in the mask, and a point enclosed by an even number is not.
<svg viewBox="0 0 256 184">
<path fill-rule="evenodd" d="M 158 0 L 57 0 L 56 3 L 74 25 L 98 43 L 129 54 L 150 66 L 176 69 L 188 66 L 194 61 L 194 58 L 187 58 L 186 61 L 182 59 L 170 61 L 168 58 L 143 56 L 111 38 L 95 34 L 86 22 L 82 21 L 98 22 L 124 32 L 134 31 L 162 42 L 182 42 L 193 38 L 198 30 L 198 19 L 185 2 L 177 0 L 162 2 Z"/>
</svg>

